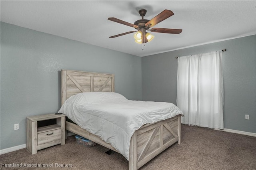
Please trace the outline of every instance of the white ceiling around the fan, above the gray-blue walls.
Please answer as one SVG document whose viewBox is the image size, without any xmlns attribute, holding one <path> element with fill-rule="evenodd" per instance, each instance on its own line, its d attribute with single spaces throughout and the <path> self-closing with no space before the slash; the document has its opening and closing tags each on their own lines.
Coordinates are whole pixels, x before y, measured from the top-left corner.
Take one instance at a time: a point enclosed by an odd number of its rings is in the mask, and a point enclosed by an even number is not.
<svg viewBox="0 0 256 170">
<path fill-rule="evenodd" d="M 256 1 L 3 1 L 1 21 L 56 36 L 90 43 L 140 57 L 256 34 Z M 135 29 L 107 20 L 134 24 L 165 9 L 174 15 L 155 28 L 183 29 L 181 34 L 151 33 L 143 47 L 133 34 L 108 38 Z"/>
</svg>

